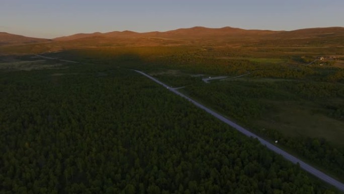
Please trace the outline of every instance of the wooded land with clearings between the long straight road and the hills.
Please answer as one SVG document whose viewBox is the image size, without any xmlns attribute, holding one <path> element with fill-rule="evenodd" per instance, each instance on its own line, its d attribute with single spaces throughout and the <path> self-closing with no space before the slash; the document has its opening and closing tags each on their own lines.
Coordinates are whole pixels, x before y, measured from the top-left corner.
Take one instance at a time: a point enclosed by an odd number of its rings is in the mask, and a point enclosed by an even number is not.
<svg viewBox="0 0 344 194">
<path fill-rule="evenodd" d="M 340 47 L 121 47 L 75 49 L 53 56 L 143 70 L 171 87 L 185 87 L 180 91 L 271 142 L 279 140 L 282 148 L 344 180 L 344 71 L 334 65 L 340 60 L 309 64 L 319 55 L 342 51 Z M 243 74 L 248 75 L 210 84 L 201 80 Z"/>
</svg>

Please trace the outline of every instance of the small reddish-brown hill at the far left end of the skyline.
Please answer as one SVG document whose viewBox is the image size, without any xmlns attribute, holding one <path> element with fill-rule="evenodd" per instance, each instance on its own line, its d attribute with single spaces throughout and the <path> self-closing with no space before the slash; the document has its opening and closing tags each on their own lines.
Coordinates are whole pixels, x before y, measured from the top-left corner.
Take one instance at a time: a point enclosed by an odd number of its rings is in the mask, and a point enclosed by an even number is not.
<svg viewBox="0 0 344 194">
<path fill-rule="evenodd" d="M 11 45 L 11 44 L 27 44 L 27 43 L 37 43 L 46 42 L 49 39 L 45 38 L 31 38 L 16 34 L 10 34 L 7 32 L 0 32 L 0 46 L 1 45 Z"/>
</svg>

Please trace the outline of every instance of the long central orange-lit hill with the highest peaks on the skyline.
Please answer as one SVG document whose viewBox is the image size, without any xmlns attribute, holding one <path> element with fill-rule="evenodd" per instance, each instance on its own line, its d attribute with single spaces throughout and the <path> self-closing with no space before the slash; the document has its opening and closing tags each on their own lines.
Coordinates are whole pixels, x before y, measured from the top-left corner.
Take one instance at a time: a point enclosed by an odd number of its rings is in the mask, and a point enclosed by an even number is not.
<svg viewBox="0 0 344 194">
<path fill-rule="evenodd" d="M 209 45 L 233 44 L 238 41 L 256 41 L 266 35 L 279 33 L 270 30 L 244 30 L 239 28 L 205 28 L 193 27 L 171 30 L 166 32 L 114 31 L 108 33 L 75 34 L 67 37 L 55 38 L 64 46 L 68 42 L 80 46 L 171 46 L 171 45 Z"/>
</svg>

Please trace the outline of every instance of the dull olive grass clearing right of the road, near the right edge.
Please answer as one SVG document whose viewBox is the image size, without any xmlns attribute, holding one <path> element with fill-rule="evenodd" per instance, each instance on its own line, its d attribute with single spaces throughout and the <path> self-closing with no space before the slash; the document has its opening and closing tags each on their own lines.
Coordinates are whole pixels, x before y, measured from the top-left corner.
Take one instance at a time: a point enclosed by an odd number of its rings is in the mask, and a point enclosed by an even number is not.
<svg viewBox="0 0 344 194">
<path fill-rule="evenodd" d="M 324 138 L 344 147 L 344 122 L 320 113 L 321 107 L 312 103 L 301 105 L 296 101 L 268 103 L 274 104 L 277 111 L 268 113 L 261 120 L 256 120 L 258 126 L 274 128 L 287 137 Z"/>
</svg>

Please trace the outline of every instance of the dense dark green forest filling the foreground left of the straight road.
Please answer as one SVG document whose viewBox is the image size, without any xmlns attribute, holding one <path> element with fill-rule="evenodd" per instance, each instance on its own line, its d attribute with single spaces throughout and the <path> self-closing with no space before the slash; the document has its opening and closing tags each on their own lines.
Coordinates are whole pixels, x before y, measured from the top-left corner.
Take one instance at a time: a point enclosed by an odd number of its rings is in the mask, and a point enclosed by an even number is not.
<svg viewBox="0 0 344 194">
<path fill-rule="evenodd" d="M 0 71 L 0 193 L 338 193 L 126 57 Z"/>
</svg>

